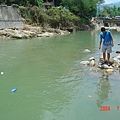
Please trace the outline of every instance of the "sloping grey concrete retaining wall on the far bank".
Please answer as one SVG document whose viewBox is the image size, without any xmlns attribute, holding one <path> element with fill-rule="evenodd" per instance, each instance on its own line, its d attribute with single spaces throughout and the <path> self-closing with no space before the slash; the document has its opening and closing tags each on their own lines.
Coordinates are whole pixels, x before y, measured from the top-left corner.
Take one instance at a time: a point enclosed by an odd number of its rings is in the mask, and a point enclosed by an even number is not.
<svg viewBox="0 0 120 120">
<path fill-rule="evenodd" d="M 18 8 L 13 6 L 0 6 L 0 29 L 21 28 L 22 17 L 18 14 Z"/>
</svg>

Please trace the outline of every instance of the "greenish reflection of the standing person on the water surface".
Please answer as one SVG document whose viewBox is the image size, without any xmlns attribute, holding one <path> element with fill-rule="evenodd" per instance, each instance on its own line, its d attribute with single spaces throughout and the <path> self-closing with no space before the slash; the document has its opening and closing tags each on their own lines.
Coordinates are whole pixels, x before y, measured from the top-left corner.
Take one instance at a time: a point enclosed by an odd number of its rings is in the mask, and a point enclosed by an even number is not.
<svg viewBox="0 0 120 120">
<path fill-rule="evenodd" d="M 97 106 L 100 107 L 105 101 L 108 100 L 110 93 L 111 85 L 109 83 L 109 76 L 105 75 L 105 72 L 102 71 L 102 76 L 100 81 L 97 84 Z"/>
</svg>

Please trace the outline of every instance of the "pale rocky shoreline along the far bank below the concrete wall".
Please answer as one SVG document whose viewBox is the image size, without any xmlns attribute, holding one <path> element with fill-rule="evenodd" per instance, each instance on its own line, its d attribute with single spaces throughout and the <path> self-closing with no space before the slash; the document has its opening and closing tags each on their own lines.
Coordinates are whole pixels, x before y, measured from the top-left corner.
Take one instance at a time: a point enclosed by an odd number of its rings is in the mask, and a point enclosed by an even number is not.
<svg viewBox="0 0 120 120">
<path fill-rule="evenodd" d="M 34 37 L 52 37 L 57 35 L 69 34 L 68 31 L 63 31 L 53 28 L 42 28 L 38 26 L 23 25 L 21 29 L 2 29 L 0 30 L 0 39 L 28 39 Z"/>
</svg>

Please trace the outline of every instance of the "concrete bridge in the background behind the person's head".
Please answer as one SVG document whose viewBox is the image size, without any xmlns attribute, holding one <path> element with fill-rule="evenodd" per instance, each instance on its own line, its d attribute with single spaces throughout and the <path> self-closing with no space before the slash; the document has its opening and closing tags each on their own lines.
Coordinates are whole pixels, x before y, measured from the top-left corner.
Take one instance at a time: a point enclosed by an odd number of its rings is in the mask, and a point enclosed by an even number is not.
<svg viewBox="0 0 120 120">
<path fill-rule="evenodd" d="M 103 24 L 106 27 L 120 26 L 120 19 L 104 19 Z"/>
</svg>

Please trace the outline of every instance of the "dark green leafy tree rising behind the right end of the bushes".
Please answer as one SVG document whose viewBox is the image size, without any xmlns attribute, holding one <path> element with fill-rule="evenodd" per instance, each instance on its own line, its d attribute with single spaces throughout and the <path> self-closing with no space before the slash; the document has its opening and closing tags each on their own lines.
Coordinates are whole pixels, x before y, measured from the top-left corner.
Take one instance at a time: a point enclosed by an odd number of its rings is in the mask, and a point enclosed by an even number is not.
<svg viewBox="0 0 120 120">
<path fill-rule="evenodd" d="M 62 5 L 68 6 L 73 13 L 88 20 L 96 16 L 97 2 L 97 0 L 62 0 Z"/>
</svg>

